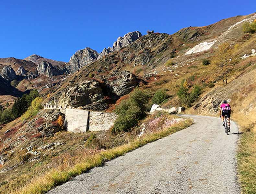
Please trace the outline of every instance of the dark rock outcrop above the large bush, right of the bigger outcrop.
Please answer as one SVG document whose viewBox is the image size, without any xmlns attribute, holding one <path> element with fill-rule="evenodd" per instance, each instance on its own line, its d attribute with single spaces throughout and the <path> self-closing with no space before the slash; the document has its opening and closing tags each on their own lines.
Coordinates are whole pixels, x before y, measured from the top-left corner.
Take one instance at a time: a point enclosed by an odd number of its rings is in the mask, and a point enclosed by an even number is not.
<svg viewBox="0 0 256 194">
<path fill-rule="evenodd" d="M 111 92 L 123 96 L 130 93 L 137 85 L 139 81 L 134 74 L 130 71 L 114 71 L 110 78 L 106 81 L 107 86 Z"/>
</svg>

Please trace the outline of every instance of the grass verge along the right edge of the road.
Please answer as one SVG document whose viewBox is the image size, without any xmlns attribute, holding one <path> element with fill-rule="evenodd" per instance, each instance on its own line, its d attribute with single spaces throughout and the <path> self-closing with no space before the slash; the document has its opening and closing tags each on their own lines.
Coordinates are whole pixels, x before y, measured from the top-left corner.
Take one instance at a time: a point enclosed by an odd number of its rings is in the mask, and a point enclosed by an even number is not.
<svg viewBox="0 0 256 194">
<path fill-rule="evenodd" d="M 246 127 L 237 154 L 239 182 L 243 194 L 256 194 L 256 133 Z"/>
</svg>

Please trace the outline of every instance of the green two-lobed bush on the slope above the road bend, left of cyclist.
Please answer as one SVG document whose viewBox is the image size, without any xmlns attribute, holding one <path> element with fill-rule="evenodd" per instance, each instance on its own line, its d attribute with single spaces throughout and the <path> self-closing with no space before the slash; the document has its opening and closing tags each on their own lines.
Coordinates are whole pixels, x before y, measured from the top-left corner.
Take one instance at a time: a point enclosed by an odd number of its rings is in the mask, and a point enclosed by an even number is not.
<svg viewBox="0 0 256 194">
<path fill-rule="evenodd" d="M 181 82 L 177 95 L 181 104 L 191 107 L 192 103 L 196 101 L 196 99 L 201 94 L 201 88 L 198 85 L 194 85 L 192 92 L 189 92 L 189 89 L 186 87 L 185 80 Z"/>
</svg>

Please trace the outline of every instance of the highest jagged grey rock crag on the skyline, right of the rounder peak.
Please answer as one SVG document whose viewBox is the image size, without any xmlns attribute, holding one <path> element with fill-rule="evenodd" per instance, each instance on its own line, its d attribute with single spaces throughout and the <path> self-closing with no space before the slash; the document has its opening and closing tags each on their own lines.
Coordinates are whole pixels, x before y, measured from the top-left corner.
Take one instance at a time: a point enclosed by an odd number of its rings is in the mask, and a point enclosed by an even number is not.
<svg viewBox="0 0 256 194">
<path fill-rule="evenodd" d="M 126 47 L 135 40 L 142 37 L 142 34 L 139 31 L 129 32 L 123 37 L 117 38 L 117 41 L 114 42 L 113 47 L 104 48 L 103 51 L 99 54 L 98 59 L 102 58 L 104 55 L 107 55 L 115 50 L 120 50 L 122 47 Z"/>
</svg>

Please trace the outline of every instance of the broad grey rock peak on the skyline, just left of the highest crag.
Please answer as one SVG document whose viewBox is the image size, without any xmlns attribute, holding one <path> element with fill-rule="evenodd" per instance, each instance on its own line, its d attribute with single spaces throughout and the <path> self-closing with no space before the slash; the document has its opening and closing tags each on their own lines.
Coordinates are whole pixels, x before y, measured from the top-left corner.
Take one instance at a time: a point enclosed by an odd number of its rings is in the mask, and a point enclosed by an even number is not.
<svg viewBox="0 0 256 194">
<path fill-rule="evenodd" d="M 69 60 L 69 72 L 74 73 L 85 65 L 97 60 L 99 53 L 89 47 L 76 51 Z"/>
</svg>

